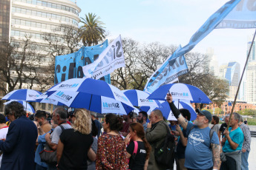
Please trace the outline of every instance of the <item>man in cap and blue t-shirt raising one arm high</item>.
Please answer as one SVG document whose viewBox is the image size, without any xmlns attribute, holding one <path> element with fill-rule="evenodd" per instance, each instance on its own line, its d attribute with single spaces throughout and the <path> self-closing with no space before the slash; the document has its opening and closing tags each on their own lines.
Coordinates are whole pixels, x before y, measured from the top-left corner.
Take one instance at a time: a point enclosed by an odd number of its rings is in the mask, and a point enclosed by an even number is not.
<svg viewBox="0 0 256 170">
<path fill-rule="evenodd" d="M 188 135 L 185 167 L 187 169 L 218 169 L 220 166 L 220 144 L 216 132 L 213 132 L 212 137 L 210 135 L 211 113 L 197 109 L 197 119 L 193 124 L 180 114 L 172 102 L 171 94 L 167 94 L 166 99 L 171 107 L 171 112 L 183 129 L 186 129 L 186 135 Z"/>
</svg>

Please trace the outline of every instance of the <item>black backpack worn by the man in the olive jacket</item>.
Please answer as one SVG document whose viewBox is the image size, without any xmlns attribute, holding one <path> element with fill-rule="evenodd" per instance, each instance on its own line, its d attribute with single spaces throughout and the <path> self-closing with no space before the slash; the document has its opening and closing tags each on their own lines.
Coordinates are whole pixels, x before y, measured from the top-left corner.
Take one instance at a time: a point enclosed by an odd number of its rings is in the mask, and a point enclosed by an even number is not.
<svg viewBox="0 0 256 170">
<path fill-rule="evenodd" d="M 168 134 L 166 134 L 165 141 L 161 143 L 160 147 L 154 148 L 154 158 L 157 163 L 166 166 L 166 169 L 173 169 L 175 137 L 171 134 L 167 125 L 165 125 L 165 128 L 167 129 Z"/>
</svg>

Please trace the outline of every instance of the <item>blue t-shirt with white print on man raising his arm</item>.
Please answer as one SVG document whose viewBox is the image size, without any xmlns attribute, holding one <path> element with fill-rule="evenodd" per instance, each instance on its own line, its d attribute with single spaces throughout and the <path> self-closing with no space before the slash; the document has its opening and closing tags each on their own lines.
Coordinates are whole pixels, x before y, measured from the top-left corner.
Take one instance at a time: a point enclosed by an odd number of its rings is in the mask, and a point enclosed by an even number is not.
<svg viewBox="0 0 256 170">
<path fill-rule="evenodd" d="M 186 134 L 188 135 L 193 123 L 188 122 Z M 210 169 L 213 166 L 211 143 L 220 144 L 216 132 L 213 133 L 210 142 L 209 127 L 200 129 L 195 126 L 188 135 L 188 143 L 185 151 L 185 167 L 188 169 Z"/>
</svg>

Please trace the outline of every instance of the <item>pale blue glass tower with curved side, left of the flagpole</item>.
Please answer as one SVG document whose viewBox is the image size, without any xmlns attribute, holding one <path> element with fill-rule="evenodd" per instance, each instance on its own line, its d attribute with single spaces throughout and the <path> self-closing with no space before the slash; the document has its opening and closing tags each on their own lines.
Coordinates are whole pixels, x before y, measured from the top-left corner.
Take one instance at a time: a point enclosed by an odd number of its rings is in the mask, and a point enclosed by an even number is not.
<svg viewBox="0 0 256 170">
<path fill-rule="evenodd" d="M 226 68 L 225 78 L 229 82 L 229 93 L 227 95 L 229 95 L 229 98 L 234 98 L 240 81 L 240 64 L 237 62 L 229 62 Z"/>
</svg>

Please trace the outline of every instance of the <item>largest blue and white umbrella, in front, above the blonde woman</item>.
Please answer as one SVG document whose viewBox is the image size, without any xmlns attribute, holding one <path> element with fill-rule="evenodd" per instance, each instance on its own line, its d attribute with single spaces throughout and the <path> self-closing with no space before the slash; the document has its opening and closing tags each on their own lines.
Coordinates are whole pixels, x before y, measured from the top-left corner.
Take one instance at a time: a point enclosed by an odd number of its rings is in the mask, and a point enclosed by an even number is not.
<svg viewBox="0 0 256 170">
<path fill-rule="evenodd" d="M 85 108 L 98 113 L 127 114 L 134 106 L 111 84 L 92 78 L 73 78 L 47 91 L 47 98 L 73 108 Z"/>
</svg>

